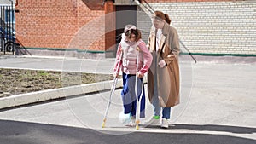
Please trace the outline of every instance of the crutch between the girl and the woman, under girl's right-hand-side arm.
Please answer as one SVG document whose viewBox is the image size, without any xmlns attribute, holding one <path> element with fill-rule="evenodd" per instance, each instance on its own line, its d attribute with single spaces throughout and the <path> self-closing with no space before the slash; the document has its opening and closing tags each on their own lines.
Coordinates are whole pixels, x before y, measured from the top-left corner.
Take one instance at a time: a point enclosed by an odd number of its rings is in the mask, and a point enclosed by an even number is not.
<svg viewBox="0 0 256 144">
<path fill-rule="evenodd" d="M 139 65 L 139 52 L 140 49 L 137 47 L 137 64 L 136 64 L 136 70 L 138 71 L 138 65 Z M 140 114 L 141 114 L 141 101 L 142 101 L 142 97 L 143 97 L 143 80 L 142 80 L 142 91 L 140 96 L 138 96 L 137 94 L 137 76 L 135 78 L 135 95 L 136 95 L 136 116 L 135 116 L 135 123 L 136 123 L 136 130 L 139 129 L 139 124 L 140 124 Z"/>
</svg>

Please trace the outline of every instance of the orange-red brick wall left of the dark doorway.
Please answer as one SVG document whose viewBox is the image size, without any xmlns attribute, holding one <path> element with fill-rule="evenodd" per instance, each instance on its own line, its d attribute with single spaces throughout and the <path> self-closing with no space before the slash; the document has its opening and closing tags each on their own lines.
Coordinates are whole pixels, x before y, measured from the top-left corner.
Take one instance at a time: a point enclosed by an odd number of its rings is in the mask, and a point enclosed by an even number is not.
<svg viewBox="0 0 256 144">
<path fill-rule="evenodd" d="M 148 3 L 210 1 L 237 0 L 147 0 Z M 114 7 L 108 8 L 106 13 L 114 11 Z M 16 9 L 20 10 L 16 13 L 16 35 L 25 47 L 104 51 L 115 43 L 114 37 L 109 39 L 114 32 L 104 33 L 107 25 L 101 0 L 94 3 L 90 0 L 18 0 Z M 98 18 L 101 19 L 89 25 L 88 31 L 79 32 L 88 22 Z M 90 40 L 92 36 L 94 39 Z"/>
</svg>

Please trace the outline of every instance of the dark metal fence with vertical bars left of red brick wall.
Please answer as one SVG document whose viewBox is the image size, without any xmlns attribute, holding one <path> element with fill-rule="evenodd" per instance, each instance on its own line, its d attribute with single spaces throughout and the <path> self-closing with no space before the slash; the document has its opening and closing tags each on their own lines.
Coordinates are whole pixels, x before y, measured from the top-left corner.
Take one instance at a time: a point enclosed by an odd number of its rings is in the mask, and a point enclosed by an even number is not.
<svg viewBox="0 0 256 144">
<path fill-rule="evenodd" d="M 0 51 L 15 53 L 15 9 L 12 5 L 0 5 Z"/>
</svg>

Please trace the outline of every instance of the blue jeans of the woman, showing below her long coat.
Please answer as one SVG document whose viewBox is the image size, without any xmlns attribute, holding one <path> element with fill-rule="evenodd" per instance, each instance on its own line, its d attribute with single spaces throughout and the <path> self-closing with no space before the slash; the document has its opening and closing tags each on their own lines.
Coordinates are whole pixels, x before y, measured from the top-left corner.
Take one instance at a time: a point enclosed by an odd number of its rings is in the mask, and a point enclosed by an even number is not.
<svg viewBox="0 0 256 144">
<path fill-rule="evenodd" d="M 170 119 L 171 107 L 161 107 L 160 101 L 158 99 L 158 89 L 157 89 L 157 77 L 154 77 L 154 96 L 152 99 L 152 105 L 154 107 L 154 116 L 160 116 L 162 109 L 162 118 Z"/>
</svg>

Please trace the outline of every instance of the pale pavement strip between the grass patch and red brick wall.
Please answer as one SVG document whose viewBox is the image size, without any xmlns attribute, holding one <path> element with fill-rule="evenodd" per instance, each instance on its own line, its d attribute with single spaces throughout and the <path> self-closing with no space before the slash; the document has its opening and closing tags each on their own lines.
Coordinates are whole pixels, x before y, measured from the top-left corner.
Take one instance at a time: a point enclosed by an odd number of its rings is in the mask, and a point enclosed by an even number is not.
<svg viewBox="0 0 256 144">
<path fill-rule="evenodd" d="M 59 72 L 111 73 L 114 59 L 79 59 L 54 56 L 0 55 L 0 68 L 47 70 Z"/>
</svg>

